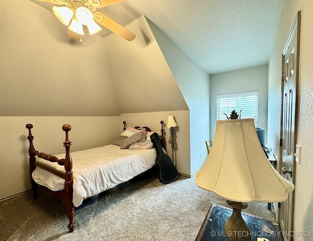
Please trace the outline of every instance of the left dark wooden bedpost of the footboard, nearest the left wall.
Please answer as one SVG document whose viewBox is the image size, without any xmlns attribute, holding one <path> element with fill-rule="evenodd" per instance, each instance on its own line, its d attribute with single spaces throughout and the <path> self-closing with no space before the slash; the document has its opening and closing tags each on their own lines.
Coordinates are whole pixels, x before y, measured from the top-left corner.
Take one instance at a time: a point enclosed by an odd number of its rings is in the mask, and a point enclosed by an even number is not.
<svg viewBox="0 0 313 241">
<path fill-rule="evenodd" d="M 38 193 L 37 193 L 38 185 L 34 181 L 34 179 L 32 177 L 32 173 L 36 169 L 36 166 L 35 166 L 36 157 L 35 156 L 37 155 L 38 151 L 35 150 L 35 147 L 33 145 L 34 137 L 31 134 L 31 128 L 33 128 L 33 125 L 32 124 L 26 124 L 26 128 L 28 129 L 27 139 L 29 141 L 29 148 L 28 148 L 28 155 L 29 155 L 29 180 L 30 180 L 30 183 L 31 183 L 31 190 L 33 191 L 33 198 L 37 199 L 38 198 Z"/>
</svg>

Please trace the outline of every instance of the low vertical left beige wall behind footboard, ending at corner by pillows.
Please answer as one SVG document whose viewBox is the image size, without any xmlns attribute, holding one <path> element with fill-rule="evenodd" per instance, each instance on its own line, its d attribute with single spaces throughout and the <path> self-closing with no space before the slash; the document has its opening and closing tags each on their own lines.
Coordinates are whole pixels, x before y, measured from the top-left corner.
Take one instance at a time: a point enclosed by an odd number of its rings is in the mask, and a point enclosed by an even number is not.
<svg viewBox="0 0 313 241">
<path fill-rule="evenodd" d="M 28 130 L 34 147 L 48 154 L 64 153 L 63 124 L 70 124 L 71 151 L 112 144 L 123 130 L 119 117 L 0 117 L 0 199 L 30 189 Z"/>
</svg>

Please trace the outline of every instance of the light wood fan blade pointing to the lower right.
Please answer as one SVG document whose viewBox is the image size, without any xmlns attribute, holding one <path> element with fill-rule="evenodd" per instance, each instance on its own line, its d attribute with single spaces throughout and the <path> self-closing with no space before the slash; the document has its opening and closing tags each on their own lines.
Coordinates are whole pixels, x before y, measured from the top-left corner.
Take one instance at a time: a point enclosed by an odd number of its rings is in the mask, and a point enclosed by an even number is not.
<svg viewBox="0 0 313 241">
<path fill-rule="evenodd" d="M 132 41 L 136 37 L 136 35 L 133 32 L 123 27 L 122 25 L 117 24 L 112 19 L 103 15 L 100 12 L 94 12 L 93 17 L 96 23 L 101 24 L 102 26 L 110 29 L 113 33 L 116 33 L 117 35 L 121 36 L 122 38 L 128 41 Z"/>
</svg>

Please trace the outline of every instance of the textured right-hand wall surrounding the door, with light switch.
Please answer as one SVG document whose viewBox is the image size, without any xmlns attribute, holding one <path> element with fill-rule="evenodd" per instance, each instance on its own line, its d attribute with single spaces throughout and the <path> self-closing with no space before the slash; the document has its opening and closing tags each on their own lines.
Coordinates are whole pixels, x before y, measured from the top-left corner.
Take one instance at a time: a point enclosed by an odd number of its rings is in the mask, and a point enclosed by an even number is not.
<svg viewBox="0 0 313 241">
<path fill-rule="evenodd" d="M 313 1 L 284 0 L 268 65 L 268 143 L 279 157 L 281 112 L 281 55 L 292 23 L 301 10 L 297 145 L 300 164 L 295 167 L 294 231 L 313 226 Z M 312 238 L 312 237 L 311 237 Z M 306 241 L 308 237 L 294 237 Z"/>
</svg>

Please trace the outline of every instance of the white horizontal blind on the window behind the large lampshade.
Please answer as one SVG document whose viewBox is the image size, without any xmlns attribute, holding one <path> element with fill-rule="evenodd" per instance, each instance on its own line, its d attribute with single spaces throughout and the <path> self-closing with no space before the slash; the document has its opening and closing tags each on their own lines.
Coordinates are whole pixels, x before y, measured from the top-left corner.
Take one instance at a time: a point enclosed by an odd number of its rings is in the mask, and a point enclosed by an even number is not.
<svg viewBox="0 0 313 241">
<path fill-rule="evenodd" d="M 235 93 L 229 95 L 216 96 L 216 117 L 217 120 L 227 119 L 233 110 L 239 115 L 241 111 L 241 119 L 253 118 L 254 125 L 258 126 L 258 92 Z"/>
</svg>

